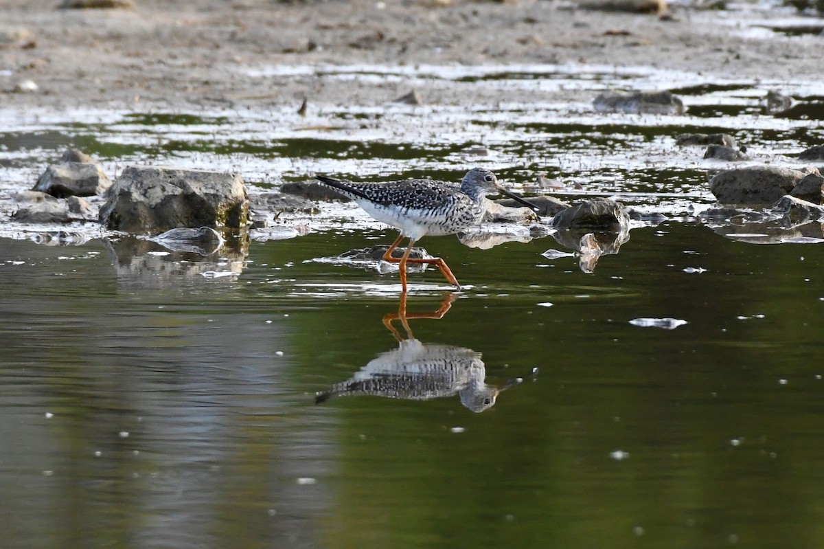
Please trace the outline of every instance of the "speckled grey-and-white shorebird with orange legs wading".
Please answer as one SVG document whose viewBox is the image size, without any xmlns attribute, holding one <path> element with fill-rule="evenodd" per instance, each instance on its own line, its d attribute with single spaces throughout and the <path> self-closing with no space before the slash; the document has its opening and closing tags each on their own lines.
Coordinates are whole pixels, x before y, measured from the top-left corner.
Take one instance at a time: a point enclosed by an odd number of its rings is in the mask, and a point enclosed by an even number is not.
<svg viewBox="0 0 824 549">
<path fill-rule="evenodd" d="M 460 186 L 430 179 L 353 183 L 325 176 L 315 178 L 353 199 L 373 218 L 400 231 L 400 235 L 383 255 L 383 260 L 400 264 L 400 284 L 404 293 L 407 263 L 436 265 L 449 284 L 461 288 L 455 275 L 452 275 L 452 270 L 440 257 L 410 259 L 410 251 L 414 243 L 426 235 L 437 237 L 455 234 L 480 223 L 486 211 L 486 195 L 501 193 L 533 211 L 538 210 L 535 204 L 503 189 L 495 174 L 484 168 L 472 168 L 466 172 Z M 404 255 L 400 258 L 393 257 L 392 251 L 404 238 L 409 238 Z"/>
</svg>

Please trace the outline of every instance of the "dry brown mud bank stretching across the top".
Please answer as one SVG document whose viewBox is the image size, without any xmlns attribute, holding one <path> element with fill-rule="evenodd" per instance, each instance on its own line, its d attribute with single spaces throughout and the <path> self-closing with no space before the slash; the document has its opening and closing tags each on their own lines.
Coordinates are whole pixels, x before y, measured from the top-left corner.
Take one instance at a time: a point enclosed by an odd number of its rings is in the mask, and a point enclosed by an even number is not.
<svg viewBox="0 0 824 549">
<path fill-rule="evenodd" d="M 12 110 L 110 107 L 198 110 L 295 105 L 381 105 L 414 82 L 353 79 L 329 86 L 324 65 L 587 63 L 672 69 L 771 82 L 792 93 L 816 79 L 816 36 L 766 30 L 799 17 L 786 8 L 727 11 L 671 5 L 668 17 L 594 12 L 569 2 L 162 2 L 130 9 L 58 9 L 55 0 L 6 2 L 0 96 Z M 10 4 L 10 5 L 9 5 Z M 820 22 L 820 18 L 807 18 Z M 269 73 L 267 73 L 269 71 Z M 26 90 L 34 82 L 35 91 Z M 785 82 L 780 86 L 780 82 Z M 22 86 L 21 86 L 21 83 Z M 575 90 L 535 97 L 513 89 L 419 90 L 430 104 L 591 101 Z"/>
</svg>

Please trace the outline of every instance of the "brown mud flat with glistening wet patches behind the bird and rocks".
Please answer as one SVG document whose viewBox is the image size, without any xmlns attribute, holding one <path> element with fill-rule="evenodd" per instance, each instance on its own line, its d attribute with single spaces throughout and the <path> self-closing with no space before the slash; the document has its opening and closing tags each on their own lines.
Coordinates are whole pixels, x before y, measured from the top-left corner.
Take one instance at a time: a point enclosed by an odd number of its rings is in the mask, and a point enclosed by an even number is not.
<svg viewBox="0 0 824 549">
<path fill-rule="evenodd" d="M 714 171 L 814 169 L 799 154 L 822 139 L 821 81 L 809 70 L 817 37 L 785 31 L 811 21 L 751 3 L 672 4 L 658 16 L 564 2 L 214 2 L 174 12 L 164 2 L 12 2 L 0 49 L 0 208 L 14 213 L 15 196 L 79 148 L 112 180 L 130 164 L 236 171 L 272 226 L 257 232 L 264 240 L 325 230 L 341 215 L 370 226 L 349 206 L 284 209 L 261 198 L 283 183 L 315 173 L 457 181 L 475 164 L 532 195 L 613 196 L 642 218 L 689 217 L 712 204 Z M 600 101 L 633 91 L 672 94 L 681 108 Z M 705 146 L 679 146 L 689 133 L 728 134 L 747 153 L 705 159 Z M 102 198 L 89 202 L 61 227 L 12 221 L 7 234 L 96 236 Z"/>
</svg>

